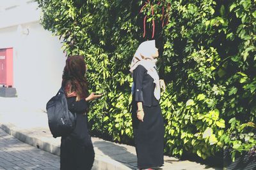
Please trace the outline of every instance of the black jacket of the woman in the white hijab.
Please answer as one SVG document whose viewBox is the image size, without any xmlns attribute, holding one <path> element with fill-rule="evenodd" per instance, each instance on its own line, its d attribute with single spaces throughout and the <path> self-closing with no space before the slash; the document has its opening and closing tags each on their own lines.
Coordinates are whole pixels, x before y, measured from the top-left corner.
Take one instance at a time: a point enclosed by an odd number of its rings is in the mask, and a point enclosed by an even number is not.
<svg viewBox="0 0 256 170">
<path fill-rule="evenodd" d="M 157 101 L 154 96 L 156 84 L 154 79 L 147 73 L 145 67 L 139 65 L 133 71 L 134 93 L 132 101 L 142 102 L 143 106 L 157 106 Z"/>
</svg>

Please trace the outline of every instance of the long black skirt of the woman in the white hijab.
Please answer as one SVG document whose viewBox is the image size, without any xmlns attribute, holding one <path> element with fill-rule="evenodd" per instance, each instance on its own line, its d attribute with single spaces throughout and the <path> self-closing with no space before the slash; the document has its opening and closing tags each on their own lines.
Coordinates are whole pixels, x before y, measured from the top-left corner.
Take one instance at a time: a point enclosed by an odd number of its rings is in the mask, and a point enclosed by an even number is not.
<svg viewBox="0 0 256 170">
<path fill-rule="evenodd" d="M 163 166 L 164 124 L 161 108 L 143 106 L 145 116 L 143 122 L 137 118 L 137 106 L 132 104 L 132 127 L 138 158 L 138 168 Z"/>
</svg>

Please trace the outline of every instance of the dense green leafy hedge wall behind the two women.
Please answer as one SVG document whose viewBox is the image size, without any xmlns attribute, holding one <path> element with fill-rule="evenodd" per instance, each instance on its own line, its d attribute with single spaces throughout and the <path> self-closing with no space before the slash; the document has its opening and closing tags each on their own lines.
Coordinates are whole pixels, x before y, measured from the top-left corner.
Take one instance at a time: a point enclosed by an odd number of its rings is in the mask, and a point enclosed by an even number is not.
<svg viewBox="0 0 256 170">
<path fill-rule="evenodd" d="M 67 55 L 86 56 L 92 91 L 89 119 L 98 136 L 131 143 L 129 64 L 141 41 L 155 39 L 165 152 L 193 152 L 206 159 L 224 146 L 237 153 L 256 144 L 256 1 L 37 0 L 41 24 L 60 36 Z M 168 8 L 168 3 L 170 8 Z M 161 27 L 162 6 L 168 24 Z M 143 17 L 147 34 L 143 38 Z"/>
</svg>

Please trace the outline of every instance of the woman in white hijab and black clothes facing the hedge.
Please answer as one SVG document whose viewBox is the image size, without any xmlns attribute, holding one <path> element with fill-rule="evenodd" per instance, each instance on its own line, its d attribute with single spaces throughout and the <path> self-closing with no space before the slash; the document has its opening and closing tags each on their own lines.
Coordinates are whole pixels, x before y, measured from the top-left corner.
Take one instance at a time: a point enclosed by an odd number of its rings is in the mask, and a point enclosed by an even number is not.
<svg viewBox="0 0 256 170">
<path fill-rule="evenodd" d="M 164 124 L 159 105 L 160 87 L 156 70 L 155 40 L 140 44 L 131 62 L 132 127 L 139 169 L 163 166 Z"/>
</svg>

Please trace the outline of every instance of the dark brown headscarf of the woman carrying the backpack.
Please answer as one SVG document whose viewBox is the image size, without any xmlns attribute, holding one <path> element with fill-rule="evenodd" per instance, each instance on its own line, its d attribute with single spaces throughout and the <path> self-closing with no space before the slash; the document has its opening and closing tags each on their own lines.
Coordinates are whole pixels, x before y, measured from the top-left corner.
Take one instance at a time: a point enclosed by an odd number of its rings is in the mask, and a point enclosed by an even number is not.
<svg viewBox="0 0 256 170">
<path fill-rule="evenodd" d="M 66 96 L 74 94 L 77 101 L 88 97 L 86 63 L 82 55 L 72 55 L 67 58 L 62 75 L 62 87 Z"/>
</svg>

